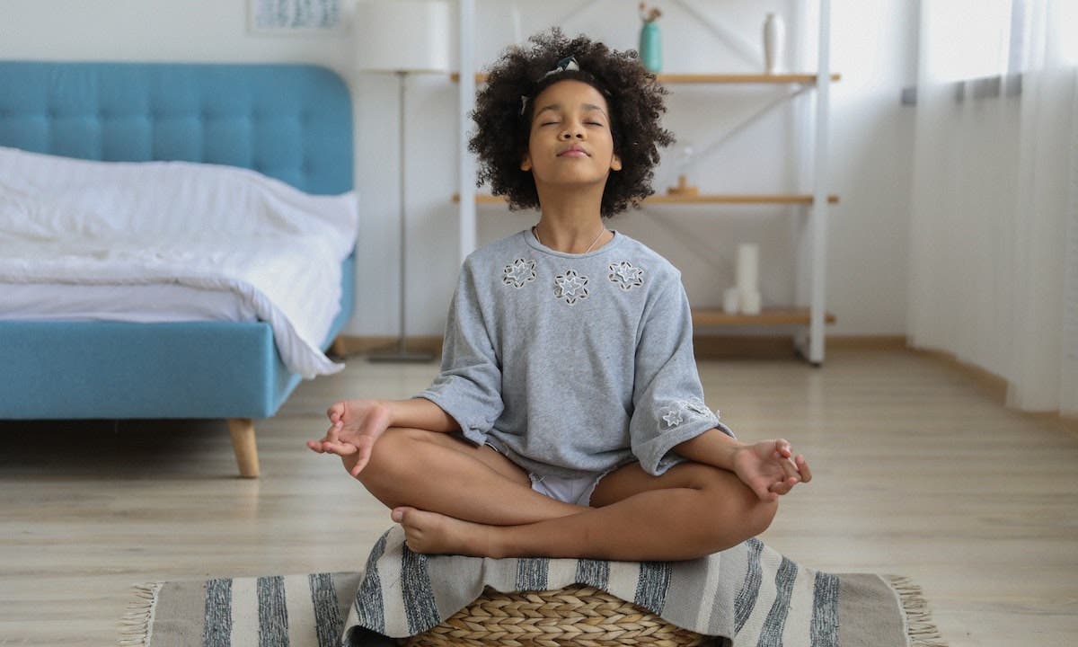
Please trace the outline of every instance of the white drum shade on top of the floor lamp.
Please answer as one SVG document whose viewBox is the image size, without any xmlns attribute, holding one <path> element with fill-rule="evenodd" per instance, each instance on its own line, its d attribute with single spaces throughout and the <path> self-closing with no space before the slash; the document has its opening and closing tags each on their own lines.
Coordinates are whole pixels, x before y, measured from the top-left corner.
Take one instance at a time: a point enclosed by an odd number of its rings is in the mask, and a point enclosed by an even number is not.
<svg viewBox="0 0 1078 647">
<path fill-rule="evenodd" d="M 450 4 L 444 0 L 371 0 L 356 5 L 361 70 L 444 72 L 450 69 Z"/>
</svg>

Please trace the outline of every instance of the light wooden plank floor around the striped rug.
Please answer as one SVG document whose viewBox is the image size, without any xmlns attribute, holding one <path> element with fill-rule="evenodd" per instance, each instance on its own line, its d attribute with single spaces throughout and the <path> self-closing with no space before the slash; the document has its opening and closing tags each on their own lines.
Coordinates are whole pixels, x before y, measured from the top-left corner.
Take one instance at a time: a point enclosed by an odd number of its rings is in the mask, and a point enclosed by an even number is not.
<svg viewBox="0 0 1078 647">
<path fill-rule="evenodd" d="M 223 422 L 0 424 L 0 645 L 111 645 L 129 586 L 357 570 L 388 514 L 307 452 L 333 400 L 407 397 L 433 364 L 353 359 L 259 425 L 234 477 Z M 762 537 L 801 564 L 924 587 L 952 647 L 1078 644 L 1078 438 L 939 360 L 833 350 L 704 362 L 743 439 L 785 436 L 816 474 Z"/>
</svg>

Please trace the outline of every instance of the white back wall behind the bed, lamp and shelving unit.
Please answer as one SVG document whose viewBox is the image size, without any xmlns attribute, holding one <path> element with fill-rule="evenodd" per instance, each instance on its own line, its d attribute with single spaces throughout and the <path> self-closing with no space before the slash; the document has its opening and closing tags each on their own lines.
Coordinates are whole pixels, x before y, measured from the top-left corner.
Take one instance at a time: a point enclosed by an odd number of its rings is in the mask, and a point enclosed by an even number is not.
<svg viewBox="0 0 1078 647">
<path fill-rule="evenodd" d="M 787 19 L 789 63 L 811 71 L 815 43 L 812 4 L 799 0 L 686 0 L 737 35 L 759 56 L 766 11 Z M 904 0 L 832 0 L 832 66 L 843 75 L 832 92 L 832 187 L 842 202 L 831 210 L 828 308 L 840 334 L 901 334 L 906 322 L 909 157 L 912 115 L 899 106 L 914 71 L 912 14 Z M 493 60 L 514 41 L 564 17 L 577 0 L 476 0 L 476 58 Z M 755 71 L 672 0 L 660 5 L 667 71 Z M 805 9 L 808 6 L 808 9 Z M 247 29 L 245 0 L 3 0 L 0 58 L 302 61 L 342 73 L 356 96 L 357 189 L 364 199 L 360 240 L 359 313 L 354 334 L 397 332 L 397 84 L 392 77 L 358 74 L 351 32 L 266 36 Z M 346 14 L 350 12 L 346 11 Z M 804 15 L 802 15 L 804 14 Z M 800 24 L 799 24 L 800 23 Z M 805 25 L 808 25 L 805 27 Z M 623 50 L 636 46 L 636 2 L 603 0 L 564 25 Z M 805 31 L 804 38 L 801 37 Z M 804 57 L 806 63 L 796 59 Z M 697 150 L 774 88 L 675 87 L 667 125 Z M 2 88 L 0 88 L 2 92 Z M 799 99 L 801 100 L 801 99 Z M 908 110 L 908 109 L 907 109 Z M 414 77 L 407 108 L 409 334 L 440 334 L 457 270 L 456 86 L 443 77 Z M 734 137 L 690 175 L 704 191 L 797 190 L 804 151 L 799 111 L 780 109 Z M 808 122 L 811 123 L 811 122 Z M 673 183 L 667 152 L 655 187 Z M 481 207 L 480 243 L 530 225 L 534 214 Z M 793 239 L 799 210 L 774 207 L 649 208 L 610 225 L 642 239 L 683 272 L 697 305 L 720 302 L 733 280 L 738 242 L 762 244 L 765 303 L 794 297 Z"/>
</svg>

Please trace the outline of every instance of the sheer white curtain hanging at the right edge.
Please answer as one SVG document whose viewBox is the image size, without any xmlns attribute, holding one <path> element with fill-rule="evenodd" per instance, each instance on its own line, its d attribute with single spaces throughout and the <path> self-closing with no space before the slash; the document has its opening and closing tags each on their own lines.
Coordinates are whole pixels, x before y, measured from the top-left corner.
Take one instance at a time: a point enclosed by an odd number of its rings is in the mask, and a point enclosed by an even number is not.
<svg viewBox="0 0 1078 647">
<path fill-rule="evenodd" d="M 921 8 L 910 342 L 1078 415 L 1078 2 Z"/>
</svg>

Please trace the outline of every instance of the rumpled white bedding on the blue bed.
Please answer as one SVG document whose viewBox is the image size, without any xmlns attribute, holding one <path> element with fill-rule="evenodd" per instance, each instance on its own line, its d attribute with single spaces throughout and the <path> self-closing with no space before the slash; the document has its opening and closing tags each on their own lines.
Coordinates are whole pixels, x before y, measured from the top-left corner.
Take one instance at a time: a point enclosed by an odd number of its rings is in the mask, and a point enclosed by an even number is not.
<svg viewBox="0 0 1078 647">
<path fill-rule="evenodd" d="M 0 284 L 10 294 L 32 287 L 67 300 L 70 289 L 74 307 L 52 303 L 42 318 L 140 320 L 155 315 L 123 315 L 130 308 L 116 301 L 136 292 L 115 289 L 179 286 L 157 292 L 180 297 L 160 309 L 185 320 L 206 306 L 180 316 L 184 299 L 227 293 L 237 302 L 232 312 L 270 324 L 285 364 L 308 378 L 342 368 L 319 344 L 340 312 L 341 263 L 357 228 L 354 193 L 309 195 L 229 166 L 89 162 L 0 147 Z M 102 298 L 97 309 L 92 293 Z M 0 297 L 0 319 L 30 318 L 15 303 L 5 313 Z"/>
</svg>

